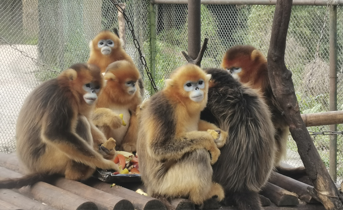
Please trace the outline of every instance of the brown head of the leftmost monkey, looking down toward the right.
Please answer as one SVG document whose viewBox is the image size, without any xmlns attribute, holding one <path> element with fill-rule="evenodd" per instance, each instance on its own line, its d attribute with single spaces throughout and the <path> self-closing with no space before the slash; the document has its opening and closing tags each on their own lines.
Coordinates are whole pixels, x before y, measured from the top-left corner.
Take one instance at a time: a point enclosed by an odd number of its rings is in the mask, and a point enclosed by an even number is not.
<svg viewBox="0 0 343 210">
<path fill-rule="evenodd" d="M 100 69 L 90 64 L 75 64 L 63 71 L 57 80 L 62 87 L 68 88 L 72 95 L 78 98 L 81 106 L 93 106 L 103 87 Z"/>
</svg>

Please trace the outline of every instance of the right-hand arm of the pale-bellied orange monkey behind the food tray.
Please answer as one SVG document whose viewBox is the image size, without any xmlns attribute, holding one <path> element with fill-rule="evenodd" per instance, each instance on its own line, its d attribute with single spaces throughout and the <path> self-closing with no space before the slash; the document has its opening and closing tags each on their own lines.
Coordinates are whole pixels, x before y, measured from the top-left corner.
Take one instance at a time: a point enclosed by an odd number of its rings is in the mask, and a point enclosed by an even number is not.
<svg viewBox="0 0 343 210">
<path fill-rule="evenodd" d="M 138 121 L 135 113 L 131 114 L 130 124 L 122 141 L 123 150 L 126 152 L 135 152 L 138 136 Z"/>
</svg>

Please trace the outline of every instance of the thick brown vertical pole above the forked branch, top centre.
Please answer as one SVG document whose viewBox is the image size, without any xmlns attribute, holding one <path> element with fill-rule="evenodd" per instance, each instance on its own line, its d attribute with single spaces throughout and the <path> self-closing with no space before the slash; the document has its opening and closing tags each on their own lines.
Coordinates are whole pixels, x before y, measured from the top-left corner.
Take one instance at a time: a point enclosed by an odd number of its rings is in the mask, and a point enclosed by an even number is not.
<svg viewBox="0 0 343 210">
<path fill-rule="evenodd" d="M 188 0 L 188 55 L 196 59 L 201 48 L 201 4 Z"/>
</svg>

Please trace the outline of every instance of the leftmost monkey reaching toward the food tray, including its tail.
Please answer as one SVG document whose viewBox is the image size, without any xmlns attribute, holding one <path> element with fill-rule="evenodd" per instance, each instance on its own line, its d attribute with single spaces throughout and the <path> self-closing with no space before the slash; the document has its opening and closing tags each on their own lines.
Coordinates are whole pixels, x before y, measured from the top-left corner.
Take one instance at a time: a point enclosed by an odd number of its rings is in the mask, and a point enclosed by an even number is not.
<svg viewBox="0 0 343 210">
<path fill-rule="evenodd" d="M 16 124 L 17 155 L 29 174 L 2 180 L 0 188 L 20 188 L 56 174 L 84 180 L 96 167 L 119 171 L 98 153 L 100 149 L 113 158 L 115 151 L 101 148 L 105 136 L 90 120 L 102 86 L 98 67 L 75 64 L 36 87 L 25 99 Z"/>
</svg>

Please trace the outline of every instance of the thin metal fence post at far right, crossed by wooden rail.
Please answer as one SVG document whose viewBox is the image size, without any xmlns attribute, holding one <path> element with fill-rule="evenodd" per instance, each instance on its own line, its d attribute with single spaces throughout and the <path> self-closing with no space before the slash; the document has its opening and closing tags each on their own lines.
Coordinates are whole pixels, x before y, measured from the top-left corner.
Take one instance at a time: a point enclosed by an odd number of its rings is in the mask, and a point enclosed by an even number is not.
<svg viewBox="0 0 343 210">
<path fill-rule="evenodd" d="M 330 111 L 337 110 L 337 6 L 330 5 Z M 337 131 L 337 125 L 330 125 L 331 131 Z M 337 135 L 330 135 L 329 174 L 337 181 Z"/>
</svg>

